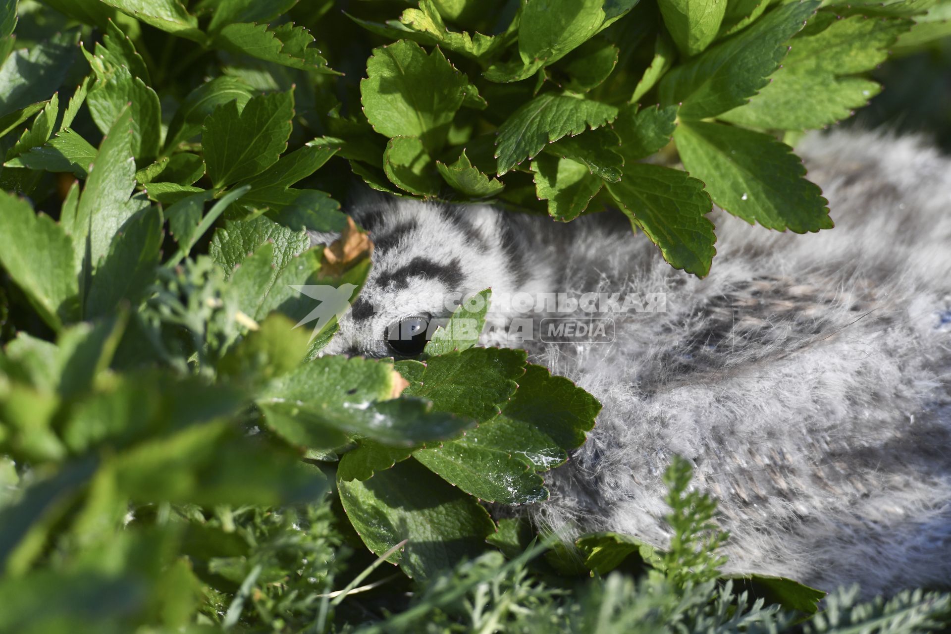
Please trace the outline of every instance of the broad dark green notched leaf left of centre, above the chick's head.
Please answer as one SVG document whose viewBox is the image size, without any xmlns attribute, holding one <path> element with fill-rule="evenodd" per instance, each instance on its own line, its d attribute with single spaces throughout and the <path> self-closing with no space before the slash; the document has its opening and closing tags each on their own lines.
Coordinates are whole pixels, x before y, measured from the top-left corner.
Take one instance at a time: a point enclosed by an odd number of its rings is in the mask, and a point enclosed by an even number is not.
<svg viewBox="0 0 951 634">
<path fill-rule="evenodd" d="M 204 164 L 214 186 L 256 176 L 277 163 L 287 147 L 294 93 L 277 92 L 215 107 L 204 120 Z"/>
</svg>

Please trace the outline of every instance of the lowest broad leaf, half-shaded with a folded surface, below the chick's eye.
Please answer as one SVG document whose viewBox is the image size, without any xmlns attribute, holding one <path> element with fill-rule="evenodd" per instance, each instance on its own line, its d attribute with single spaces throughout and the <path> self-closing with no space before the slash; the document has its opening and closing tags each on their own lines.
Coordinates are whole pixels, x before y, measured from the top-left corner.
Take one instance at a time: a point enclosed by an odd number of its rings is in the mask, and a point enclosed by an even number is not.
<svg viewBox="0 0 951 634">
<path fill-rule="evenodd" d="M 360 539 L 377 555 L 399 542 L 388 561 L 414 578 L 432 577 L 485 550 L 495 532 L 476 499 L 415 460 L 398 462 L 365 482 L 338 481 L 340 502 Z"/>
</svg>

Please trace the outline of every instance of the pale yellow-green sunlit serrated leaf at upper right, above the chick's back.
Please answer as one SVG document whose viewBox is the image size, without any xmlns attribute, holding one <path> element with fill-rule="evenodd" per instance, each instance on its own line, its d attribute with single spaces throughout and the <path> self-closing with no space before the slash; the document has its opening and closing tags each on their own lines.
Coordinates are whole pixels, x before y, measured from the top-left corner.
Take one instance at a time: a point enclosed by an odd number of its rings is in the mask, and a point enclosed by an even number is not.
<svg viewBox="0 0 951 634">
<path fill-rule="evenodd" d="M 882 89 L 845 77 L 881 64 L 910 20 L 869 20 L 853 15 L 814 35 L 793 38 L 783 67 L 746 106 L 719 119 L 752 127 L 804 129 L 834 124 L 864 106 Z M 803 99 L 808 95 L 808 99 Z"/>
</svg>

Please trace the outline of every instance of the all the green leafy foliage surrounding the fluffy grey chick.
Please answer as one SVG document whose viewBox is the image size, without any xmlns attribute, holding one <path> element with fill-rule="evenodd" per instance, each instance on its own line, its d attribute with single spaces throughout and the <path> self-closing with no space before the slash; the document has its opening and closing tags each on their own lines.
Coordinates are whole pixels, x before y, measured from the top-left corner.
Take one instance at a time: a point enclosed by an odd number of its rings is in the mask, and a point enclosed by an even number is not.
<svg viewBox="0 0 951 634">
<path fill-rule="evenodd" d="M 420 360 L 320 356 L 338 317 L 313 321 L 312 289 L 352 300 L 370 268 L 354 174 L 553 221 L 611 206 L 697 276 L 713 202 L 829 228 L 777 138 L 862 106 L 947 3 L 829 5 L 0 2 L 0 630 L 945 624 L 946 595 L 847 591 L 797 624 L 822 593 L 723 576 L 679 459 L 669 543 L 538 559 L 494 517 L 548 496 L 592 395 L 477 345 L 488 289 Z"/>
</svg>

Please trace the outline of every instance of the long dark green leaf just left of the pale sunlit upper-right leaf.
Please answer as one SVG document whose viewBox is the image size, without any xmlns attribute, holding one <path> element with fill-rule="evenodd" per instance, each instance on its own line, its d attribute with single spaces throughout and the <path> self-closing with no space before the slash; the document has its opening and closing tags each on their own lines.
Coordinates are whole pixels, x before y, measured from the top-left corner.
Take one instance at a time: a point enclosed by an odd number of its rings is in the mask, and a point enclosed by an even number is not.
<svg viewBox="0 0 951 634">
<path fill-rule="evenodd" d="M 819 3 L 792 2 L 671 70 L 660 83 L 662 105 L 680 104 L 681 119 L 705 119 L 747 103 L 786 56 L 786 40 Z"/>
</svg>

